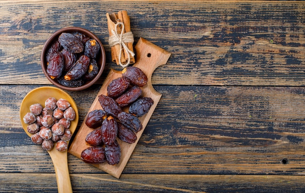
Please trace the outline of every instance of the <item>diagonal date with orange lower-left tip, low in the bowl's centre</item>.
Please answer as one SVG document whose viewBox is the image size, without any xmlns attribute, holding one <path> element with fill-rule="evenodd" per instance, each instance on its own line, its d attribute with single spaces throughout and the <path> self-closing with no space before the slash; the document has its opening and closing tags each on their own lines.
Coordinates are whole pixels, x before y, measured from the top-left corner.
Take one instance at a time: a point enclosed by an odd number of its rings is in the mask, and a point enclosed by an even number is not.
<svg viewBox="0 0 305 193">
<path fill-rule="evenodd" d="M 76 80 L 86 73 L 90 63 L 90 58 L 88 56 L 82 55 L 76 61 L 76 63 L 71 67 L 71 69 L 66 73 L 64 78 L 66 80 Z"/>
</svg>

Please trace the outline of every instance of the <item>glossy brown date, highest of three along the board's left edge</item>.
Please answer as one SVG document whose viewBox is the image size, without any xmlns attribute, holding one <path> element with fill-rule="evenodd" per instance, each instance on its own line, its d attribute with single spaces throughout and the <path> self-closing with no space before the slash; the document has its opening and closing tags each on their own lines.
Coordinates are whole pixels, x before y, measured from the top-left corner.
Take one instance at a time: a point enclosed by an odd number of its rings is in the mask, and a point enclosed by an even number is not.
<svg viewBox="0 0 305 193">
<path fill-rule="evenodd" d="M 102 109 L 95 109 L 88 113 L 85 124 L 90 128 L 97 128 L 102 126 L 104 119 L 106 118 L 106 112 Z"/>
</svg>

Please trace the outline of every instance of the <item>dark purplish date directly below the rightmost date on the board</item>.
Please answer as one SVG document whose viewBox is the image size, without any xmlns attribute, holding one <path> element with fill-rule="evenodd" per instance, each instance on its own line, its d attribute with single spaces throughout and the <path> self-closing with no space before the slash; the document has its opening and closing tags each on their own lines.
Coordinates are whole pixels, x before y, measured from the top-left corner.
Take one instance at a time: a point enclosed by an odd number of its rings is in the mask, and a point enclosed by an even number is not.
<svg viewBox="0 0 305 193">
<path fill-rule="evenodd" d="M 118 114 L 117 118 L 124 126 L 131 129 L 135 133 L 143 128 L 140 120 L 130 113 L 122 111 Z"/>
</svg>

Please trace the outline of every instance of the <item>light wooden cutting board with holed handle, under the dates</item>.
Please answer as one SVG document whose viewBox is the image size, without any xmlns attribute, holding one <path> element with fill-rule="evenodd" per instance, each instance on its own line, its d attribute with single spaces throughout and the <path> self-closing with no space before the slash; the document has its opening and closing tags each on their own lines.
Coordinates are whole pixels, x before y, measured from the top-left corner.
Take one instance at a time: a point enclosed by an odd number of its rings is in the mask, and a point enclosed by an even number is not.
<svg viewBox="0 0 305 193">
<path fill-rule="evenodd" d="M 142 96 L 151 97 L 154 104 L 152 105 L 150 111 L 147 114 L 139 118 L 139 120 L 143 125 L 143 129 L 136 134 L 137 140 L 134 143 L 129 144 L 121 140 L 117 140 L 121 147 L 121 158 L 118 164 L 109 165 L 107 162 L 102 164 L 93 164 L 95 167 L 107 172 L 110 175 L 113 175 L 116 178 L 119 178 L 121 173 L 123 172 L 130 156 L 133 153 L 133 149 L 135 148 L 138 140 L 140 139 L 147 123 L 149 122 L 152 116 L 152 113 L 156 105 L 158 104 L 161 98 L 161 94 L 158 93 L 156 90 L 154 90 L 154 88 L 152 87 L 152 73 L 158 66 L 166 64 L 171 55 L 171 53 L 168 53 L 167 51 L 152 44 L 151 42 L 149 42 L 144 38 L 140 38 L 138 40 L 137 44 L 135 45 L 135 51 L 136 51 L 136 62 L 135 64 L 133 64 L 133 66 L 141 69 L 148 77 L 148 83 L 142 89 Z M 105 79 L 105 82 L 103 83 L 101 89 L 99 90 L 95 98 L 95 101 L 93 102 L 88 112 L 91 112 L 95 109 L 102 109 L 101 105 L 98 102 L 98 96 L 100 94 L 107 95 L 107 87 L 109 83 L 115 78 L 118 78 L 120 76 L 122 76 L 121 71 L 117 71 L 113 69 L 110 70 L 107 78 Z M 128 109 L 124 109 L 124 110 L 128 112 Z M 85 139 L 88 133 L 90 133 L 91 131 L 93 131 L 93 129 L 89 128 L 85 124 L 85 120 L 84 120 L 79 130 L 77 131 L 76 136 L 72 141 L 68 152 L 76 156 L 77 158 L 80 158 L 81 152 L 87 147 L 89 147 L 89 145 L 86 144 Z"/>
</svg>

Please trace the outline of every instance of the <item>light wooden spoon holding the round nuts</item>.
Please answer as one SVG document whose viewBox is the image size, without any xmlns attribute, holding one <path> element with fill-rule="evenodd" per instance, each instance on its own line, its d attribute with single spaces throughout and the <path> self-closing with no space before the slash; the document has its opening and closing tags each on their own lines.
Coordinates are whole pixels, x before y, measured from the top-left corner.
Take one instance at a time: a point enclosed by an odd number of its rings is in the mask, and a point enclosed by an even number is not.
<svg viewBox="0 0 305 193">
<path fill-rule="evenodd" d="M 23 122 L 23 117 L 27 112 L 30 112 L 30 105 L 35 103 L 39 103 L 44 106 L 44 102 L 49 97 L 55 97 L 57 100 L 62 98 L 69 101 L 70 105 L 73 107 L 76 113 L 75 120 L 73 120 L 70 124 L 70 130 L 73 134 L 76 130 L 78 123 L 78 110 L 75 101 L 73 98 L 56 87 L 40 87 L 30 91 L 23 99 L 20 106 L 20 120 L 22 123 L 22 127 L 26 134 L 31 137 L 33 134 L 27 131 L 27 124 Z M 69 144 L 69 141 L 68 141 Z M 57 178 L 57 188 L 58 193 L 72 193 L 72 186 L 70 181 L 69 169 L 68 169 L 68 159 L 67 159 L 67 151 L 59 152 L 55 148 L 56 142 L 54 143 L 54 147 L 52 150 L 48 151 L 50 157 L 52 158 L 56 178 Z"/>
</svg>

